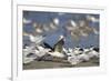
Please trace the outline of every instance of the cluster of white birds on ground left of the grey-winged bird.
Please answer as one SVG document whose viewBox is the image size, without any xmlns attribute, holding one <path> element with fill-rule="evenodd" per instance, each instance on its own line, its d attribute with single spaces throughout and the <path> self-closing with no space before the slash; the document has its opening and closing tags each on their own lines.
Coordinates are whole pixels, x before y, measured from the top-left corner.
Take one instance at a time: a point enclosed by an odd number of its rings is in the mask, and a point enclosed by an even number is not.
<svg viewBox="0 0 111 81">
<path fill-rule="evenodd" d="M 36 49 L 36 47 L 38 49 Z M 41 45 L 30 45 L 23 49 L 23 63 L 30 63 L 34 59 L 40 59 L 50 51 L 50 49 L 44 49 Z"/>
</svg>

